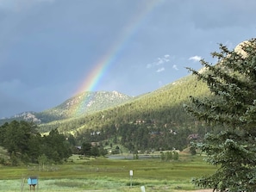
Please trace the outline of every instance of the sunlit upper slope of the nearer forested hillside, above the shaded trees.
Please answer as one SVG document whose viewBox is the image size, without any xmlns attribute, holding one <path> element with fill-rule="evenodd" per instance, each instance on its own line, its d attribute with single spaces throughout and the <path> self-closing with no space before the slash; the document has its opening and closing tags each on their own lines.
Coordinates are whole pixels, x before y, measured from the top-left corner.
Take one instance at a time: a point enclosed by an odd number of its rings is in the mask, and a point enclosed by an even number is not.
<svg viewBox="0 0 256 192">
<path fill-rule="evenodd" d="M 160 124 L 177 126 L 190 124 L 189 115 L 184 112 L 183 104 L 189 96 L 206 96 L 209 90 L 195 77 L 188 76 L 168 84 L 159 90 L 138 96 L 112 108 L 95 113 L 81 115 L 74 119 L 52 121 L 41 125 L 41 131 L 47 132 L 58 127 L 61 132 L 104 127 L 109 124 L 131 123 L 134 121 L 156 121 Z"/>
</svg>

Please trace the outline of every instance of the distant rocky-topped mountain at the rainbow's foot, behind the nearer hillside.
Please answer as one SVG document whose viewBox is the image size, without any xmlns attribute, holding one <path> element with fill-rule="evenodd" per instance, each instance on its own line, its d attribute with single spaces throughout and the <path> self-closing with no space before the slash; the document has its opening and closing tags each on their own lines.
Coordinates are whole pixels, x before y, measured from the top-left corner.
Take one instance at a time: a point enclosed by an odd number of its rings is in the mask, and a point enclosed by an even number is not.
<svg viewBox="0 0 256 192">
<path fill-rule="evenodd" d="M 87 100 L 86 100 L 87 99 Z M 0 125 L 9 121 L 34 121 L 35 123 L 47 123 L 49 121 L 58 121 L 86 115 L 105 108 L 114 107 L 120 103 L 134 99 L 134 96 L 127 96 L 116 90 L 113 91 L 84 91 L 59 105 L 48 108 L 41 112 L 24 111 L 22 113 L 2 118 Z M 86 102 L 82 101 L 86 100 Z M 80 108 L 77 113 L 73 112 Z"/>
</svg>

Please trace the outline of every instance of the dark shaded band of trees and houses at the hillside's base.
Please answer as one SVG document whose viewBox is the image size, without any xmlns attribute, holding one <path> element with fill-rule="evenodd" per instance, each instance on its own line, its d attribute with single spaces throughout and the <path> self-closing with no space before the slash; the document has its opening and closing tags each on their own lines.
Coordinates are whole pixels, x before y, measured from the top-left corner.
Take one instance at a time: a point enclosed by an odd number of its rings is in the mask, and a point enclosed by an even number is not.
<svg viewBox="0 0 256 192">
<path fill-rule="evenodd" d="M 199 127 L 199 126 L 198 126 Z M 99 134 L 91 134 L 98 132 Z M 158 127 L 151 122 L 120 123 L 118 126 L 111 124 L 101 129 L 87 129 L 77 133 L 76 139 L 79 143 L 84 140 L 90 142 L 103 142 L 111 140 L 114 145 L 121 145 L 130 152 L 147 152 L 152 150 L 184 150 L 189 143 L 188 136 L 193 132 L 189 127 Z M 199 135 L 205 133 L 204 128 L 197 128 Z"/>
</svg>

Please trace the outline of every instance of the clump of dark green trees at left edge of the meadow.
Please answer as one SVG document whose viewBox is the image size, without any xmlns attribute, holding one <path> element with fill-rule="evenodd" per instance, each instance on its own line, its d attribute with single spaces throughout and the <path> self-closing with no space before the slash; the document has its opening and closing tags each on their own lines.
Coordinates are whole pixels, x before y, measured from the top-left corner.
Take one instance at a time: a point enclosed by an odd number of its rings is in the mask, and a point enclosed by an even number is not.
<svg viewBox="0 0 256 192">
<path fill-rule="evenodd" d="M 33 122 L 11 121 L 0 126 L 0 146 L 8 152 L 12 164 L 37 163 L 44 155 L 48 160 L 59 163 L 72 155 L 70 143 L 64 134 L 53 129 L 41 137 L 38 127 Z"/>
</svg>

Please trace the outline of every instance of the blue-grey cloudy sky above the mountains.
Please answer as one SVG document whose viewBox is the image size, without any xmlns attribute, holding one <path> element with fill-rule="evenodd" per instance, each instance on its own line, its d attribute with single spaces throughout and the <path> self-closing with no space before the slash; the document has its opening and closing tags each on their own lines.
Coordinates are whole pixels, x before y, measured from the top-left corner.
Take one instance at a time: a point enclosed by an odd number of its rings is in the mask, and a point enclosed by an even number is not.
<svg viewBox="0 0 256 192">
<path fill-rule="evenodd" d="M 128 96 L 159 89 L 187 76 L 185 67 L 200 69 L 198 60 L 213 62 L 219 43 L 232 49 L 255 37 L 255 7 L 255 0 L 0 0 L 0 118 L 53 108 L 89 88 L 83 84 Z"/>
</svg>

